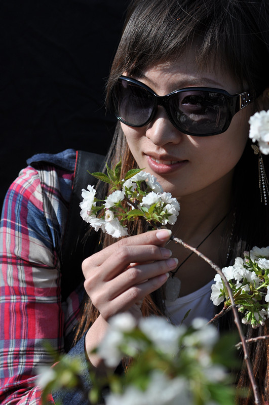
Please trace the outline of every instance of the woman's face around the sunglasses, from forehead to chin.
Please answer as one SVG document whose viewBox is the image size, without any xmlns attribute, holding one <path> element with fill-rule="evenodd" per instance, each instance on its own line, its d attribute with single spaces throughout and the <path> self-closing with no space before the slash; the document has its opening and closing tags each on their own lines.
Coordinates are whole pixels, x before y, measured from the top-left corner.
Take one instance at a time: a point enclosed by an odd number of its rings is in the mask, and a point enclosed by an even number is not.
<svg viewBox="0 0 269 405">
<path fill-rule="evenodd" d="M 213 64 L 198 71 L 191 52 L 176 61 L 150 67 L 134 78 L 159 96 L 184 87 L 218 88 L 232 95 L 247 90 L 241 89 L 228 73 L 214 69 Z M 145 127 L 121 125 L 138 166 L 156 176 L 165 191 L 180 198 L 196 193 L 223 193 L 230 186 L 233 169 L 248 138 L 252 113 L 251 106 L 245 107 L 233 117 L 227 131 L 206 137 L 177 130 L 161 106 Z"/>
</svg>

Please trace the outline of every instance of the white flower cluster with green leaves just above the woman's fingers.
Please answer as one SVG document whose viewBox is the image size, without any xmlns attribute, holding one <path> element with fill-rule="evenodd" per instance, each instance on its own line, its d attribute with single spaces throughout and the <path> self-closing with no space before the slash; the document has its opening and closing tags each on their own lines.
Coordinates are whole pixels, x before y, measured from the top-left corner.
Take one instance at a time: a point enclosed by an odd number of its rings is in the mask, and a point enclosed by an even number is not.
<svg viewBox="0 0 269 405">
<path fill-rule="evenodd" d="M 81 216 L 96 231 L 101 229 L 118 238 L 128 235 L 126 220 L 141 217 L 154 226 L 176 222 L 180 209 L 178 201 L 171 193 L 163 192 L 157 179 L 149 173 L 134 169 L 121 179 L 119 163 L 114 170 L 107 167 L 107 176 L 103 173 L 91 174 L 109 183 L 112 191 L 100 200 L 96 198 L 93 186 L 88 185 L 88 190 L 82 190 Z M 123 204 L 124 201 L 126 204 Z"/>
</svg>

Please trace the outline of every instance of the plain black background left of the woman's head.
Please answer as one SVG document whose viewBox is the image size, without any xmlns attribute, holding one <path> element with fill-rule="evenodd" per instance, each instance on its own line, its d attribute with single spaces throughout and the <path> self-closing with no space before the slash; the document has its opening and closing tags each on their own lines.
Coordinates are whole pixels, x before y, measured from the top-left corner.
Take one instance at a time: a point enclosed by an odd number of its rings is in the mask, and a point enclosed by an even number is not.
<svg viewBox="0 0 269 405">
<path fill-rule="evenodd" d="M 2 0 L 0 207 L 25 160 L 66 148 L 105 153 L 104 92 L 128 0 Z"/>
</svg>

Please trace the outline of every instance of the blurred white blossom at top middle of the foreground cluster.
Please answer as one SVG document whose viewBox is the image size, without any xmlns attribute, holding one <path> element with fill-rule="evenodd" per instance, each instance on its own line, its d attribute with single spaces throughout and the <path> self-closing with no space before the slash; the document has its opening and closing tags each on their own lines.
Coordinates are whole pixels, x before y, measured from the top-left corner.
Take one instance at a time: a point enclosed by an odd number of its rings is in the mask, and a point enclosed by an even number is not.
<svg viewBox="0 0 269 405">
<path fill-rule="evenodd" d="M 185 327 L 175 327 L 165 318 L 151 316 L 139 321 L 141 331 L 164 353 L 175 354 L 178 351 L 178 339 Z"/>
</svg>

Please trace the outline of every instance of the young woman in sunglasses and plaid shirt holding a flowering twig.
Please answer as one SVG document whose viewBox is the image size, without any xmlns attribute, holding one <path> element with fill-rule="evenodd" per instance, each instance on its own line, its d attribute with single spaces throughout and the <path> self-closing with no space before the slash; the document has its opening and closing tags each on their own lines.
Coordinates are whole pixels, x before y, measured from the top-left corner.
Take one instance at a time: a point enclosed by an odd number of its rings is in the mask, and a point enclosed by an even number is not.
<svg viewBox="0 0 269 405">
<path fill-rule="evenodd" d="M 249 117 L 269 108 L 268 17 L 261 0 L 135 1 L 108 80 L 108 102 L 121 123 L 106 160 L 116 164 L 121 156 L 125 171 L 139 167 L 155 175 L 180 203 L 173 234 L 219 266 L 269 240 L 248 139 Z M 74 152 L 50 160 L 21 173 L 3 210 L 2 403 L 40 402 L 34 377 L 36 367 L 50 361 L 45 340 L 102 373 L 91 350 L 112 315 L 161 313 L 179 325 L 189 309 L 187 323 L 217 311 L 210 301 L 213 270 L 169 242 L 169 230 L 146 232 L 140 222 L 117 242 L 100 235 L 102 249 L 82 264 L 84 287 L 61 303 Z M 107 189 L 99 185 L 98 192 Z M 266 331 L 267 325 L 256 334 Z M 250 349 L 265 401 L 267 344 Z M 87 372 L 84 383 L 90 388 Z M 246 385 L 243 370 L 239 386 Z M 59 398 L 83 403 L 79 392 L 53 392 L 50 399 Z"/>
</svg>

